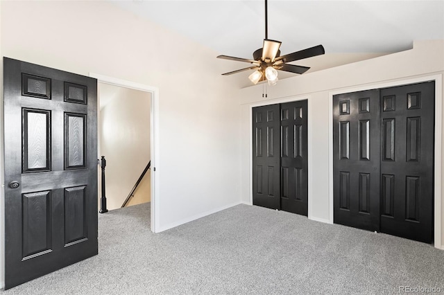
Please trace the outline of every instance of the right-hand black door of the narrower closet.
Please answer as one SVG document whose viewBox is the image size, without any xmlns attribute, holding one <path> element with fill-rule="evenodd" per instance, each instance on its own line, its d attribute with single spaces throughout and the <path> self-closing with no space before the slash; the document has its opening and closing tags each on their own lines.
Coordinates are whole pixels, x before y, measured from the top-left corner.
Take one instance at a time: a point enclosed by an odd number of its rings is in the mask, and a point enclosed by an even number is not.
<svg viewBox="0 0 444 295">
<path fill-rule="evenodd" d="M 281 210 L 307 216 L 307 100 L 281 105 Z"/>
</svg>

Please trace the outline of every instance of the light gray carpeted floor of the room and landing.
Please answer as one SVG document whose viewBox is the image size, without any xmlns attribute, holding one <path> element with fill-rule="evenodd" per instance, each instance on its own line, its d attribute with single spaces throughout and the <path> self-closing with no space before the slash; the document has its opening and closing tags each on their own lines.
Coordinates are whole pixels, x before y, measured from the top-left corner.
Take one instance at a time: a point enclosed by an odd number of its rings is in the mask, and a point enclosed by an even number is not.
<svg viewBox="0 0 444 295">
<path fill-rule="evenodd" d="M 234 206 L 157 234 L 149 215 L 149 204 L 99 215 L 99 256 L 0 293 L 444 292 L 444 251 L 428 244 L 257 206 Z"/>
</svg>

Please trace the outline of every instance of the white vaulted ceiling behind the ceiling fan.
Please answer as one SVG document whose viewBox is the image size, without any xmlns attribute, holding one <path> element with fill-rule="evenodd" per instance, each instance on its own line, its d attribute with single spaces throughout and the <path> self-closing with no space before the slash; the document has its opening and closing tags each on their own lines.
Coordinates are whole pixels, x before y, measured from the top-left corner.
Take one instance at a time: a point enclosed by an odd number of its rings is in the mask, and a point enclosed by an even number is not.
<svg viewBox="0 0 444 295">
<path fill-rule="evenodd" d="M 262 0 L 111 2 L 217 54 L 252 58 L 253 51 L 262 47 Z M 325 55 L 292 62 L 311 66 L 309 73 L 404 51 L 412 48 L 413 40 L 444 39 L 444 0 L 268 0 L 268 39 L 282 42 L 281 55 L 323 44 Z M 232 64 L 232 70 L 248 66 L 220 62 Z M 295 75 L 281 73 L 280 79 Z M 248 80 L 248 72 L 236 75 Z"/>
</svg>

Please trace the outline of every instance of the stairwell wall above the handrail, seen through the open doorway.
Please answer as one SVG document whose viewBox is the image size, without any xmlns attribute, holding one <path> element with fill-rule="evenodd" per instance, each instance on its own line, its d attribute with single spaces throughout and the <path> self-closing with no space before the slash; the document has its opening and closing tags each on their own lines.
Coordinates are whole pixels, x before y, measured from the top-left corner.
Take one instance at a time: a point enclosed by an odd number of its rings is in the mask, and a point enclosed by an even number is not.
<svg viewBox="0 0 444 295">
<path fill-rule="evenodd" d="M 106 91 L 105 91 L 106 89 Z M 120 208 L 151 159 L 151 93 L 99 83 L 100 156 L 108 210 Z"/>
</svg>

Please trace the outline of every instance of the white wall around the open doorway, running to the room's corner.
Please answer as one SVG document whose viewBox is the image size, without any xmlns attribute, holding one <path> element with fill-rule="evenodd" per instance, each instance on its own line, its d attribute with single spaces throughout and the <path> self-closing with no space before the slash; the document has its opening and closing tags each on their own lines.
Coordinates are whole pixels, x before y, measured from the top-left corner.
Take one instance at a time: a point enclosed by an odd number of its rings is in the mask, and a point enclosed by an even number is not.
<svg viewBox="0 0 444 295">
<path fill-rule="evenodd" d="M 160 230 L 239 202 L 236 78 L 219 53 L 105 1 L 1 1 L 0 21 L 2 55 L 159 89 Z"/>
</svg>

